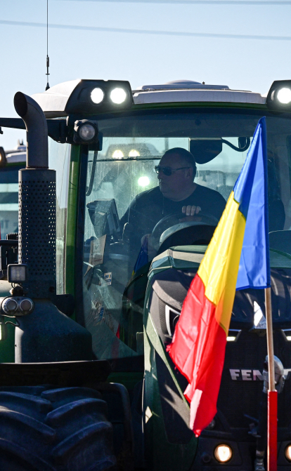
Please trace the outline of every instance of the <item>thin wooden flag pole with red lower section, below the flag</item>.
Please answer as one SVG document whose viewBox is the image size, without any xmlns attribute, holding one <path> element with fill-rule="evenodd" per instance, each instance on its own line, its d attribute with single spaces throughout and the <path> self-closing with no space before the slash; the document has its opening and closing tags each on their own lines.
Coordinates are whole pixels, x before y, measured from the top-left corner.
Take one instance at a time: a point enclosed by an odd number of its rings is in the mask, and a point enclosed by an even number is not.
<svg viewBox="0 0 291 471">
<path fill-rule="evenodd" d="M 268 347 L 268 471 L 277 471 L 277 391 L 273 347 L 271 288 L 265 288 L 266 336 Z"/>
</svg>

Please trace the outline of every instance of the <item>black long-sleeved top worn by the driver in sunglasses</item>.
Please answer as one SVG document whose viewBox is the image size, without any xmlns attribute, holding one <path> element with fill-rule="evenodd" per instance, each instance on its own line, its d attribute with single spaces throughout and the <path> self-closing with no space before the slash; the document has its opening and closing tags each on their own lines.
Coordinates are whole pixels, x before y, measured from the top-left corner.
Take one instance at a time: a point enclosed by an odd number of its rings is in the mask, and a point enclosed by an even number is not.
<svg viewBox="0 0 291 471">
<path fill-rule="evenodd" d="M 122 228 L 125 223 L 131 225 L 134 245 L 140 246 L 141 237 L 150 234 L 164 216 L 181 213 L 181 218 L 183 218 L 185 214 L 182 213 L 182 207 L 188 205 L 200 206 L 202 213 L 212 214 L 219 220 L 226 206 L 226 201 L 219 192 L 201 185 L 197 185 L 193 193 L 182 201 L 172 201 L 172 199 L 163 197 L 160 188 L 155 187 L 136 195 L 122 216 L 120 223 Z"/>
</svg>

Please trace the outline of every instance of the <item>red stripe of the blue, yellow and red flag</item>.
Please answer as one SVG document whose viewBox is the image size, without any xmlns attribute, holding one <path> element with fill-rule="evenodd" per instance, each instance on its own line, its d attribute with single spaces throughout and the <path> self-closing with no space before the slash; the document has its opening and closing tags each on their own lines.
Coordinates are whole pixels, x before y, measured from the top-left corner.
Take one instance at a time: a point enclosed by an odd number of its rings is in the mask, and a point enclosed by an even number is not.
<svg viewBox="0 0 291 471">
<path fill-rule="evenodd" d="M 190 427 L 198 437 L 216 414 L 224 367 L 226 333 L 215 319 L 216 306 L 205 297 L 205 286 L 193 279 L 173 342 L 167 347 L 179 371 L 186 376 L 184 392 L 190 404 Z"/>
</svg>

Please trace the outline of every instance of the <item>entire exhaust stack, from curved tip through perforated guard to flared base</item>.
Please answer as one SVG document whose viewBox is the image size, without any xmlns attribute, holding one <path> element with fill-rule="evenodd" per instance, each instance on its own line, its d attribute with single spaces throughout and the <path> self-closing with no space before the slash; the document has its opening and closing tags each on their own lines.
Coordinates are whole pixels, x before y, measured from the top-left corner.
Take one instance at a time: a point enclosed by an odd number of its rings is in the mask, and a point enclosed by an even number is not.
<svg viewBox="0 0 291 471">
<path fill-rule="evenodd" d="M 15 110 L 27 129 L 27 168 L 18 173 L 19 263 L 28 267 L 24 293 L 34 310 L 18 317 L 15 363 L 92 359 L 89 331 L 60 312 L 56 298 L 56 171 L 48 169 L 48 128 L 41 107 L 16 93 Z"/>
</svg>

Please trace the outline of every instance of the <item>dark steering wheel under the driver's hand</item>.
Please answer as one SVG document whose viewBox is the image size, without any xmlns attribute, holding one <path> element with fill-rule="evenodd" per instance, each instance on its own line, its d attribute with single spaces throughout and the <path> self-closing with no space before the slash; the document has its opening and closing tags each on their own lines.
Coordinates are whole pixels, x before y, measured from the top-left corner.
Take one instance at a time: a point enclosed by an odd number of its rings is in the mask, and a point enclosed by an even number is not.
<svg viewBox="0 0 291 471">
<path fill-rule="evenodd" d="M 183 221 L 180 222 L 180 219 L 185 218 L 186 215 L 181 215 L 181 213 L 173 213 L 167 216 L 164 216 L 153 228 L 151 234 L 151 242 L 155 250 L 159 250 L 161 244 L 164 240 L 167 239 L 170 235 L 174 234 L 181 229 L 186 227 L 196 226 L 196 225 L 207 225 L 214 226 L 219 223 L 219 220 L 214 217 L 214 215 L 209 213 L 198 213 L 192 216 L 195 218 L 192 221 Z"/>
</svg>

